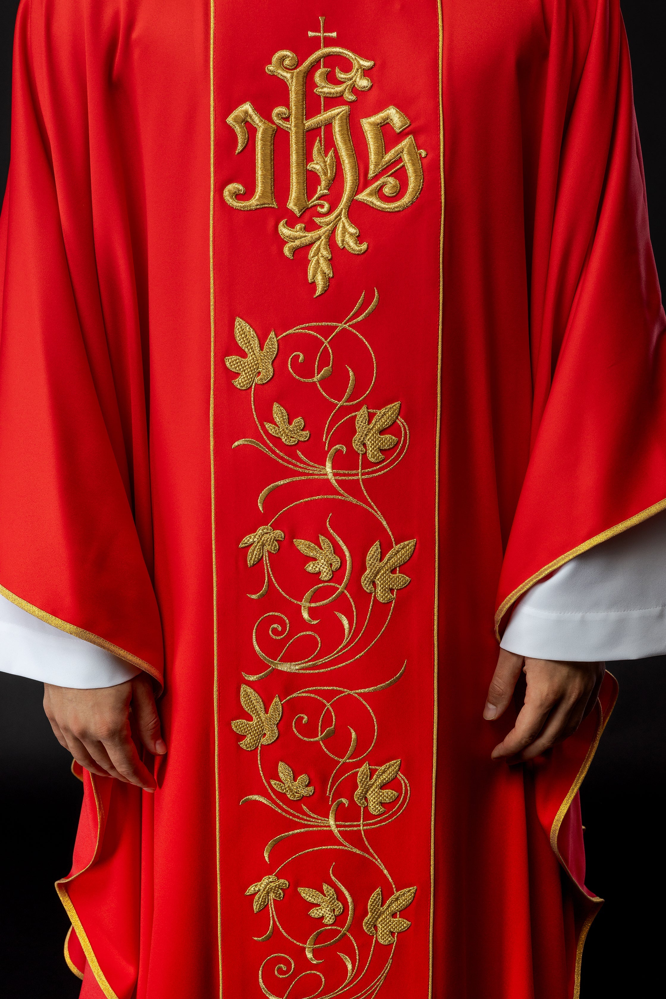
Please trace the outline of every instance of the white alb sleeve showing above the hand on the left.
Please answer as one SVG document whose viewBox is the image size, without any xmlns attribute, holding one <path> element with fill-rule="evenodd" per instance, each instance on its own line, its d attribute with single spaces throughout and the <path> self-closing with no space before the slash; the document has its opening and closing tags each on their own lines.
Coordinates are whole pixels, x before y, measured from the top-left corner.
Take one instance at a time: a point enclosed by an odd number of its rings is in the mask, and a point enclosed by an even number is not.
<svg viewBox="0 0 666 999">
<path fill-rule="evenodd" d="M 0 670 L 56 686 L 115 686 L 141 672 L 113 652 L 61 631 L 0 594 Z"/>
</svg>

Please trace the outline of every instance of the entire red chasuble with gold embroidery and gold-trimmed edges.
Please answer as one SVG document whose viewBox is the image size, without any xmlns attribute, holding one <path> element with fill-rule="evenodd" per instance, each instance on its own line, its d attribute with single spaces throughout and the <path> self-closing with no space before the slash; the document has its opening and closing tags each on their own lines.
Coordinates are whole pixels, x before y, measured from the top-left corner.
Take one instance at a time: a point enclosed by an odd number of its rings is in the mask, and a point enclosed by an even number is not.
<svg viewBox="0 0 666 999">
<path fill-rule="evenodd" d="M 617 0 L 24 0 L 14 66 L 0 591 L 169 745 L 83 774 L 82 996 L 577 996 L 613 680 L 522 767 L 481 712 L 666 506 Z"/>
</svg>

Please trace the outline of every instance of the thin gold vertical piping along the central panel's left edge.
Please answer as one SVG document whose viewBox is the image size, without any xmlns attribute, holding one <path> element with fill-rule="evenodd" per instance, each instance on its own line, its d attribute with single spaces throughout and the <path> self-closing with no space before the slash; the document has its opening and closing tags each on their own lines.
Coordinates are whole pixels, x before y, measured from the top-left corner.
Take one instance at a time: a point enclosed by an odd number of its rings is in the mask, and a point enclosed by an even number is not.
<svg viewBox="0 0 666 999">
<path fill-rule="evenodd" d="M 210 218 L 210 264 L 211 264 L 211 526 L 213 554 L 213 718 L 215 732 L 215 843 L 216 874 L 218 887 L 218 967 L 220 973 L 220 999 L 222 999 L 222 884 L 220 864 L 220 719 L 218 684 L 218 565 L 215 537 L 215 277 L 213 268 L 214 218 L 215 218 L 215 0 L 211 0 L 211 218 Z"/>
</svg>

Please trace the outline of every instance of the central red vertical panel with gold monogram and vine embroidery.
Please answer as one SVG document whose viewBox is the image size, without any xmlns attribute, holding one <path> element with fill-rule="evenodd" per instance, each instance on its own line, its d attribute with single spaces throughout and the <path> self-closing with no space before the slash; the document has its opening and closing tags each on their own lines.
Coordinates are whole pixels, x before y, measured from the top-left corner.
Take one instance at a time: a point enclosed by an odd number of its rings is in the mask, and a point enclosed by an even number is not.
<svg viewBox="0 0 666 999">
<path fill-rule="evenodd" d="M 223 992 L 426 997 L 437 7 L 414 20 L 347 5 L 310 36 L 305 2 L 287 18 L 251 7 L 261 44 L 253 36 L 239 58 L 216 40 Z M 416 78 L 394 50 L 420 51 L 424 31 L 433 45 Z M 281 221 L 277 206 L 305 221 Z M 315 302 L 294 266 L 302 247 Z"/>
</svg>

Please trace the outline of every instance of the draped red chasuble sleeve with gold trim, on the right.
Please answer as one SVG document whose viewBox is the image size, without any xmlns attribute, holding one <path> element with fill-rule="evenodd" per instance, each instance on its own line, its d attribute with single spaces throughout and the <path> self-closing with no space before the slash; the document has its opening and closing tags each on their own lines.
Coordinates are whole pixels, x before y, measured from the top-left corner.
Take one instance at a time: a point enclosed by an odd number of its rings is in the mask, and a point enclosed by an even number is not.
<svg viewBox="0 0 666 999">
<path fill-rule="evenodd" d="M 531 453 L 498 636 L 534 583 L 666 507 L 666 318 L 619 2 L 551 6 L 528 234 Z"/>
</svg>

